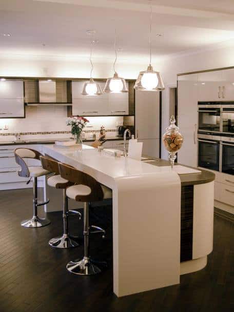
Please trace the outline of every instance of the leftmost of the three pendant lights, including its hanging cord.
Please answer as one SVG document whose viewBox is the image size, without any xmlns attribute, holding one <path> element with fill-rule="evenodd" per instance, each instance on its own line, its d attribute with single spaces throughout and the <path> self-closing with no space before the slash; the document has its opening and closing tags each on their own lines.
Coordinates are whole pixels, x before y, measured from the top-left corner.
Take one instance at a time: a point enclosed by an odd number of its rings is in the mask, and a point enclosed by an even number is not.
<svg viewBox="0 0 234 312">
<path fill-rule="evenodd" d="M 87 33 L 91 36 L 90 39 L 90 57 L 89 61 L 91 64 L 91 71 L 90 71 L 90 80 L 89 82 L 86 82 L 84 84 L 83 90 L 82 90 L 82 95 L 101 95 L 103 92 L 100 88 L 99 83 L 94 82 L 92 78 L 92 72 L 93 72 L 93 63 L 92 63 L 92 46 L 94 44 L 93 41 L 93 34 L 95 33 L 95 30 L 88 30 Z"/>
</svg>

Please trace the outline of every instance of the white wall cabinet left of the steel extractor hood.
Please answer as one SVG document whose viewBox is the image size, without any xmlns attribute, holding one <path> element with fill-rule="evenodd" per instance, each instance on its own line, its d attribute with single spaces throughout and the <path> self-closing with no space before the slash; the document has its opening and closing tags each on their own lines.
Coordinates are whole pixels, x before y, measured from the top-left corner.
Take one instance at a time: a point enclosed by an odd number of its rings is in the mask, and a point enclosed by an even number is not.
<svg viewBox="0 0 234 312">
<path fill-rule="evenodd" d="M 0 118 L 24 118 L 24 83 L 6 80 L 0 82 Z"/>
</svg>

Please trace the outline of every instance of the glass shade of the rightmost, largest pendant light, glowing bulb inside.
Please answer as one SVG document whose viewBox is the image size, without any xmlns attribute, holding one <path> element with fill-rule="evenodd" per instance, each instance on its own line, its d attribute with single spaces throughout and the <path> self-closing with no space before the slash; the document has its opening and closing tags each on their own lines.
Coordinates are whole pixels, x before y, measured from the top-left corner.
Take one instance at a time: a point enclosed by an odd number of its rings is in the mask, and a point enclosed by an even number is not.
<svg viewBox="0 0 234 312">
<path fill-rule="evenodd" d="M 160 72 L 154 71 L 152 66 L 149 65 L 147 70 L 140 72 L 134 89 L 141 91 L 162 91 L 165 87 Z"/>
</svg>

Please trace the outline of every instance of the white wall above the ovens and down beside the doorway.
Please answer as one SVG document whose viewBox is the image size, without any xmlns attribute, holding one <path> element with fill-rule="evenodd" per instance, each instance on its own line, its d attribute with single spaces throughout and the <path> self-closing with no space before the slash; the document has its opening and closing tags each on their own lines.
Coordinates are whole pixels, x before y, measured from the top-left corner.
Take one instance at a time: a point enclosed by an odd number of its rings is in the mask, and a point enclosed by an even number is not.
<svg viewBox="0 0 234 312">
<path fill-rule="evenodd" d="M 158 69 L 161 71 L 165 83 L 165 90 L 162 92 L 162 133 L 169 124 L 169 87 L 177 85 L 177 74 L 229 66 L 234 66 L 232 46 L 171 57 L 159 65 Z M 162 158 L 167 159 L 167 157 L 168 153 L 162 144 Z"/>
</svg>

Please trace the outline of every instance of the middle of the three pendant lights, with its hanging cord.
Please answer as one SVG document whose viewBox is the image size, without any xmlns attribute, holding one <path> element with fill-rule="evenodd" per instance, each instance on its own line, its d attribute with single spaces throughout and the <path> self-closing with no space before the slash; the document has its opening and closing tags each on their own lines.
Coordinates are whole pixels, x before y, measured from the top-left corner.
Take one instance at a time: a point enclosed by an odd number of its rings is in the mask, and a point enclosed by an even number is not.
<svg viewBox="0 0 234 312">
<path fill-rule="evenodd" d="M 128 87 L 124 78 L 119 77 L 118 73 L 115 71 L 115 63 L 117 61 L 117 51 L 116 51 L 116 29 L 114 37 L 114 51 L 115 51 L 115 60 L 113 64 L 114 75 L 112 78 L 108 78 L 106 81 L 104 93 L 123 93 L 128 92 Z"/>
</svg>

